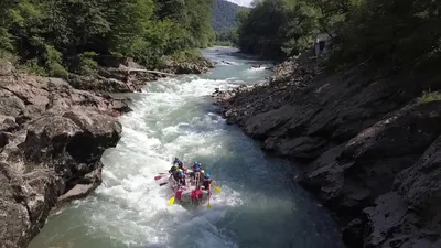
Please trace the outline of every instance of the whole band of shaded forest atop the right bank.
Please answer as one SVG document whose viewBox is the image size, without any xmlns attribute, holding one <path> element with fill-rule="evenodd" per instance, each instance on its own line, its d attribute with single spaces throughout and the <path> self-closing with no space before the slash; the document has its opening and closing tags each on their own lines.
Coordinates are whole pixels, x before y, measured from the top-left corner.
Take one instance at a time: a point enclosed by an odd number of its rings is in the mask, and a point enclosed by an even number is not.
<svg viewBox="0 0 441 248">
<path fill-rule="evenodd" d="M 238 14 L 238 46 L 284 58 L 332 36 L 329 65 L 388 71 L 437 66 L 441 4 L 433 0 L 256 0 Z"/>
</svg>

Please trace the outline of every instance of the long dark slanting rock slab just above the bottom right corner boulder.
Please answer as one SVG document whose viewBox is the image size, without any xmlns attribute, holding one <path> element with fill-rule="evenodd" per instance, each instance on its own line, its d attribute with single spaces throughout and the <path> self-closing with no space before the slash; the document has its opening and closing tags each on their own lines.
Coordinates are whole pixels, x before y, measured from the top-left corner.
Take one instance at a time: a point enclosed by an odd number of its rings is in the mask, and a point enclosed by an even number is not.
<svg viewBox="0 0 441 248">
<path fill-rule="evenodd" d="M 300 183 L 331 207 L 357 212 L 391 190 L 395 176 L 441 133 L 440 121 L 441 101 L 410 104 L 351 139 L 334 157 L 324 153 L 326 159 L 312 163 L 316 170 Z"/>
</svg>

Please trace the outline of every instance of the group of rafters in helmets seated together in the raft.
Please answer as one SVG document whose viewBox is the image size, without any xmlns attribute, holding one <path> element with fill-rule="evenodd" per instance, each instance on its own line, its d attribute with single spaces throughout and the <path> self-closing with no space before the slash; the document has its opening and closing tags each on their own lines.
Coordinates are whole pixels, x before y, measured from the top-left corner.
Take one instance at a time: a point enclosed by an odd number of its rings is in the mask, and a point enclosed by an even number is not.
<svg viewBox="0 0 441 248">
<path fill-rule="evenodd" d="M 179 158 L 174 158 L 173 166 L 170 169 L 169 173 L 174 179 L 176 190 L 182 186 L 190 186 L 187 185 L 187 183 L 190 183 L 195 185 L 196 191 L 211 191 L 212 179 L 209 177 L 209 173 L 206 172 L 197 161 L 193 163 L 192 171 L 189 173 L 184 163 Z M 190 177 L 190 182 L 187 182 L 187 176 Z"/>
</svg>

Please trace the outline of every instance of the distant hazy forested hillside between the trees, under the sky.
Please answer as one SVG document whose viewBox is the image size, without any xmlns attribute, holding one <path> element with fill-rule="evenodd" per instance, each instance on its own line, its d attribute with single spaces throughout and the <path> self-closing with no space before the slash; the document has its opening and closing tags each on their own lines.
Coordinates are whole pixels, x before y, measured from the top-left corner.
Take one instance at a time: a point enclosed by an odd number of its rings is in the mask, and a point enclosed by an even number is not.
<svg viewBox="0 0 441 248">
<path fill-rule="evenodd" d="M 218 32 L 222 30 L 236 28 L 236 15 L 237 12 L 241 9 L 246 9 L 246 7 L 241 7 L 233 2 L 227 2 L 225 0 L 215 0 L 212 18 L 212 25 L 214 31 Z"/>
</svg>

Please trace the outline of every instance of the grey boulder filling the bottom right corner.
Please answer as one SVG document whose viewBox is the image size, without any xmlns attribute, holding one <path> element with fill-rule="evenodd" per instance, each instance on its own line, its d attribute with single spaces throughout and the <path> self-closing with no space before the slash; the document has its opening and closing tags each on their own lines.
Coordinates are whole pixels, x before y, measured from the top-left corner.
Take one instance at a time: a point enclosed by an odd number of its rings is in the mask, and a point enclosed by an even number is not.
<svg viewBox="0 0 441 248">
<path fill-rule="evenodd" d="M 364 247 L 441 247 L 441 137 L 364 209 Z M 352 228 L 352 230 L 354 230 Z"/>
</svg>

